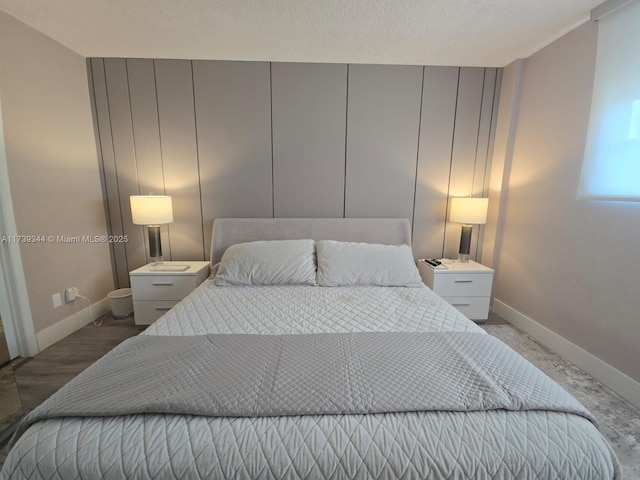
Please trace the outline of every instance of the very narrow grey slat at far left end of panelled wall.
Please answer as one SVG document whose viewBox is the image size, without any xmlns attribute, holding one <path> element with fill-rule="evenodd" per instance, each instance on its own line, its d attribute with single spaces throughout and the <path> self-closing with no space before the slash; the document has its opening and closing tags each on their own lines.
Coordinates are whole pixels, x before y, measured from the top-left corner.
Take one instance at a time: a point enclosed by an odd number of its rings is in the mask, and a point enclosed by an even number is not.
<svg viewBox="0 0 640 480">
<path fill-rule="evenodd" d="M 118 191 L 118 176 L 113 154 L 113 140 L 111 134 L 111 118 L 107 96 L 107 83 L 104 71 L 104 60 L 93 58 L 91 60 L 93 78 L 93 93 L 96 107 L 96 120 L 100 132 L 100 150 L 102 152 L 102 168 L 104 170 L 104 183 L 109 211 L 110 228 L 112 235 L 124 235 L 122 215 L 120 214 L 120 193 Z M 113 244 L 115 263 L 116 286 L 124 288 L 129 286 L 129 270 L 127 265 L 127 253 L 124 243 Z"/>
</svg>

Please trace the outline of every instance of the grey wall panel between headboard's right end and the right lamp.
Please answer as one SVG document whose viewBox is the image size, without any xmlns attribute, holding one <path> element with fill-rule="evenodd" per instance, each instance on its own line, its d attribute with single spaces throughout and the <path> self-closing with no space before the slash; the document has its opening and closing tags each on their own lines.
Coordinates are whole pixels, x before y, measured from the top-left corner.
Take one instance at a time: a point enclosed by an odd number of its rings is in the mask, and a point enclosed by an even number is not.
<svg viewBox="0 0 640 480">
<path fill-rule="evenodd" d="M 414 253 L 422 258 L 442 256 L 459 70 L 424 72 L 413 225 Z"/>
</svg>

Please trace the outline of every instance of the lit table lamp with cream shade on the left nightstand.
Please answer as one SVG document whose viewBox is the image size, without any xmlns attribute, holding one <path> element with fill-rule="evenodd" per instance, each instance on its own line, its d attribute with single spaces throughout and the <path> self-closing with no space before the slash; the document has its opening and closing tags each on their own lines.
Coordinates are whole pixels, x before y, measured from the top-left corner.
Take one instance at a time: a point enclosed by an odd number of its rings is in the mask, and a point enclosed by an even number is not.
<svg viewBox="0 0 640 480">
<path fill-rule="evenodd" d="M 169 195 L 131 195 L 131 218 L 149 231 L 149 255 L 154 264 L 162 263 L 160 225 L 173 222 L 173 206 Z"/>
</svg>

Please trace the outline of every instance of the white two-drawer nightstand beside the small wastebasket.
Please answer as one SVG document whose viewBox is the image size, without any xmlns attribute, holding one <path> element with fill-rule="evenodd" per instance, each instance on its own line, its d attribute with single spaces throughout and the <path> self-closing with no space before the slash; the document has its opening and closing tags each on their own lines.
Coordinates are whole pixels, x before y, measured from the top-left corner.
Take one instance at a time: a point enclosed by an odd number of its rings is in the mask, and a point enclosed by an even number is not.
<svg viewBox="0 0 640 480">
<path fill-rule="evenodd" d="M 183 271 L 162 271 L 158 267 L 188 265 Z M 164 262 L 145 265 L 129 273 L 136 325 L 151 325 L 171 310 L 209 276 L 209 262 Z"/>
</svg>

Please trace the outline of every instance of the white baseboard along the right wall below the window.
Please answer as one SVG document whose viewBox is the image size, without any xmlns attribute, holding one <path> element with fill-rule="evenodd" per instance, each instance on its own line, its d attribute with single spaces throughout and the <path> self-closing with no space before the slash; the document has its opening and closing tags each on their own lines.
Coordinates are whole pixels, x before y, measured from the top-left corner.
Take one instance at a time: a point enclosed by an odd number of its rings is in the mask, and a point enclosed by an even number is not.
<svg viewBox="0 0 640 480">
<path fill-rule="evenodd" d="M 640 408 L 640 383 L 633 378 L 500 300 L 493 301 L 492 310 Z"/>
</svg>

